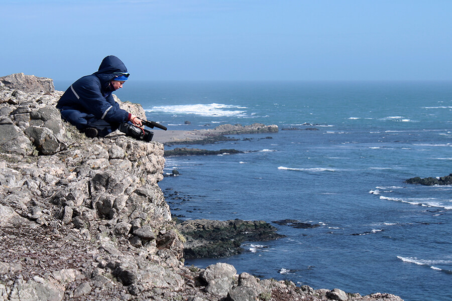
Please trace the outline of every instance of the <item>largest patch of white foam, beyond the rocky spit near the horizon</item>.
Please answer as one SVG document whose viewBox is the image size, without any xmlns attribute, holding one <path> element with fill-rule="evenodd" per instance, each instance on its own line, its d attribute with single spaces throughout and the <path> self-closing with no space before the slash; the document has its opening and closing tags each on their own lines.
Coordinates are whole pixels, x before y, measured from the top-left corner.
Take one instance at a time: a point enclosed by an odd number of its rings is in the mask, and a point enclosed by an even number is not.
<svg viewBox="0 0 452 301">
<path fill-rule="evenodd" d="M 224 117 L 224 116 L 246 116 L 246 111 L 234 110 L 243 109 L 245 107 L 210 103 L 210 104 L 181 104 L 181 105 L 162 105 L 154 106 L 150 109 L 145 109 L 146 112 L 163 112 L 172 113 L 176 115 L 194 114 L 200 116 Z"/>
</svg>

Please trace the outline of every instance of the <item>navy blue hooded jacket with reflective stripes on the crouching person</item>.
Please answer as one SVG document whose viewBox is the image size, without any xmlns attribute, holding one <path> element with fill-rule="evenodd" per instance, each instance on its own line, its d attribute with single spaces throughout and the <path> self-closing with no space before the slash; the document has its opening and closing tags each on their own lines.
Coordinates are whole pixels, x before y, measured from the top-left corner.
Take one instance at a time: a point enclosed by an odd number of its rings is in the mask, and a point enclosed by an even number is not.
<svg viewBox="0 0 452 301">
<path fill-rule="evenodd" d="M 111 95 L 113 91 L 110 88 L 110 81 L 117 76 L 113 74 L 114 72 L 126 73 L 127 68 L 119 58 L 110 55 L 102 60 L 97 72 L 83 76 L 73 83 L 56 105 L 63 117 L 79 129 L 87 126 L 86 119 L 102 119 L 117 125 L 127 122 L 129 113 L 121 109 Z M 80 114 L 77 118 L 73 115 L 67 118 L 64 110 L 71 110 L 70 112 L 75 110 Z"/>
</svg>

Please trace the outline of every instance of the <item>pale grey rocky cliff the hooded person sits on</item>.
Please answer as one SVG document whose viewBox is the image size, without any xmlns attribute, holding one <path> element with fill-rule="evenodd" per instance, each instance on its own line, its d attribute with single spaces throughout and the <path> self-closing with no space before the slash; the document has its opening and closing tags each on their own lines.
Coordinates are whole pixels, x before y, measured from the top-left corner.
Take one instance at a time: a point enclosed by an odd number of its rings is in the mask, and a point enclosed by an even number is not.
<svg viewBox="0 0 452 301">
<path fill-rule="evenodd" d="M 61 120 L 62 93 L 51 79 L 0 78 L 0 300 L 401 300 L 185 266 L 158 186 L 164 145 L 85 137 Z"/>
</svg>

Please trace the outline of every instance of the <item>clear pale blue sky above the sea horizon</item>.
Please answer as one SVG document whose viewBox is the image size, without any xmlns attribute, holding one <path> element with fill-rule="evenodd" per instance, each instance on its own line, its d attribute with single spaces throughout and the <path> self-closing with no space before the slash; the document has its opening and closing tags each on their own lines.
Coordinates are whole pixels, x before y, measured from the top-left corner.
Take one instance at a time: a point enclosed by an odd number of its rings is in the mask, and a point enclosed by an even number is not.
<svg viewBox="0 0 452 301">
<path fill-rule="evenodd" d="M 0 0 L 0 76 L 452 80 L 450 0 Z"/>
</svg>

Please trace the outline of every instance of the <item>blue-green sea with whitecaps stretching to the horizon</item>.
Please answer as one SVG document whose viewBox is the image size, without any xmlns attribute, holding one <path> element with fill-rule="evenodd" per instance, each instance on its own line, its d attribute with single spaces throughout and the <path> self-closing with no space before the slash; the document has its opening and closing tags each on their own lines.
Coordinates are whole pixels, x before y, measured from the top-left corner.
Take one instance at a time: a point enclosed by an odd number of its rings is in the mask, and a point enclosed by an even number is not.
<svg viewBox="0 0 452 301">
<path fill-rule="evenodd" d="M 180 175 L 159 186 L 174 216 L 263 220 L 285 235 L 186 265 L 226 262 L 238 273 L 314 289 L 452 300 L 452 186 L 404 182 L 452 173 L 452 82 L 131 78 L 115 93 L 169 129 L 279 127 L 229 135 L 234 141 L 165 146 L 244 152 L 167 157 L 164 172 Z M 286 219 L 315 227 L 275 223 Z"/>
</svg>

